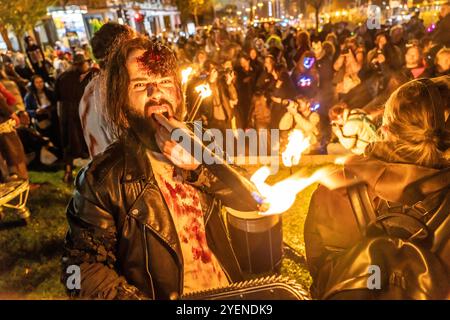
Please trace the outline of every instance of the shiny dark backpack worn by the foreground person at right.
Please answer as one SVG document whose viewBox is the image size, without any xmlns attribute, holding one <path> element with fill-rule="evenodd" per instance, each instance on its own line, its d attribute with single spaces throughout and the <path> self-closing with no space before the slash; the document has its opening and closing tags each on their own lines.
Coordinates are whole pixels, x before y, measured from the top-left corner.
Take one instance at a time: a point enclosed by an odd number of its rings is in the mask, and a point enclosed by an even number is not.
<svg viewBox="0 0 450 320">
<path fill-rule="evenodd" d="M 450 181 L 449 177 L 447 170 L 435 179 Z M 374 208 L 363 183 L 347 192 L 363 237 L 353 247 L 328 256 L 312 287 L 313 296 L 450 298 L 450 271 L 440 257 L 450 237 L 450 185 L 412 206 L 381 200 Z"/>
</svg>

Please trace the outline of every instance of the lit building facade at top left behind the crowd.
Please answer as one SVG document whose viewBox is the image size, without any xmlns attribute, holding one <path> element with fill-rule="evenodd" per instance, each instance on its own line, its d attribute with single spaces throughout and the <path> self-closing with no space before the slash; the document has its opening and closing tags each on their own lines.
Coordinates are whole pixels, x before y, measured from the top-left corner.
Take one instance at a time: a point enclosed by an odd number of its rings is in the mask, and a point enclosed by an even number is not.
<svg viewBox="0 0 450 320">
<path fill-rule="evenodd" d="M 107 21 L 129 24 L 138 32 L 150 36 L 171 32 L 181 24 L 180 12 L 175 1 L 88 1 L 74 0 L 63 5 L 48 7 L 48 15 L 36 24 L 35 37 L 42 45 L 53 46 L 61 41 L 65 46 L 87 43 Z M 10 32 L 9 38 L 15 50 L 20 49 L 18 40 Z M 0 39 L 0 48 L 6 48 Z"/>
</svg>

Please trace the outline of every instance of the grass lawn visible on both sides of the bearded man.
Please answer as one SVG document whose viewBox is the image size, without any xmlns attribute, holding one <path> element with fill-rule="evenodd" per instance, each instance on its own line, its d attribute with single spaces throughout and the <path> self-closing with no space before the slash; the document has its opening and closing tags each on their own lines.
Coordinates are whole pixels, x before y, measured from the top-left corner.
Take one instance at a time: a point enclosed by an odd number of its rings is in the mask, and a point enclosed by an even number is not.
<svg viewBox="0 0 450 320">
<path fill-rule="evenodd" d="M 312 171 L 312 169 L 310 169 Z M 270 183 L 289 175 L 281 170 Z M 32 183 L 41 186 L 30 192 L 31 221 L 18 222 L 6 212 L 0 222 L 0 299 L 65 299 L 60 283 L 60 257 L 67 231 L 65 208 L 71 188 L 62 183 L 63 172 L 30 172 Z M 283 214 L 284 241 L 304 254 L 303 225 L 315 185 L 304 190 L 294 206 Z M 281 273 L 309 287 L 311 279 L 304 260 L 292 255 L 283 259 Z"/>
</svg>

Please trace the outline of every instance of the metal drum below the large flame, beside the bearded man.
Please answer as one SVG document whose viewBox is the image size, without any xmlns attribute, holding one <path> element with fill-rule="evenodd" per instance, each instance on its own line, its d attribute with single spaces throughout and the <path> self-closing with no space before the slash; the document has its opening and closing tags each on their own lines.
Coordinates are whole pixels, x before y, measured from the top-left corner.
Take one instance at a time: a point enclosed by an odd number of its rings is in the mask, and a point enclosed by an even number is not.
<svg viewBox="0 0 450 320">
<path fill-rule="evenodd" d="M 281 215 L 227 209 L 231 243 L 244 272 L 275 271 L 281 263 L 283 233 Z"/>
</svg>

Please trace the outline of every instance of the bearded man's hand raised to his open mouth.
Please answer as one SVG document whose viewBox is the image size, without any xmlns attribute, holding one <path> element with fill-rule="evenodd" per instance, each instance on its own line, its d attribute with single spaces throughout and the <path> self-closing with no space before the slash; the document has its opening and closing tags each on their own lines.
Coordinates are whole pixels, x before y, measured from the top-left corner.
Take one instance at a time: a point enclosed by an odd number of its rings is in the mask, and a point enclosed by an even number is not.
<svg viewBox="0 0 450 320">
<path fill-rule="evenodd" d="M 155 114 L 154 117 L 159 124 L 155 134 L 156 143 L 164 156 L 181 169 L 196 170 L 200 162 L 171 137 L 173 130 L 187 129 L 184 123 L 175 118 L 167 119 L 160 114 Z"/>
</svg>

